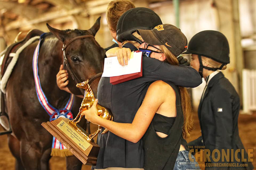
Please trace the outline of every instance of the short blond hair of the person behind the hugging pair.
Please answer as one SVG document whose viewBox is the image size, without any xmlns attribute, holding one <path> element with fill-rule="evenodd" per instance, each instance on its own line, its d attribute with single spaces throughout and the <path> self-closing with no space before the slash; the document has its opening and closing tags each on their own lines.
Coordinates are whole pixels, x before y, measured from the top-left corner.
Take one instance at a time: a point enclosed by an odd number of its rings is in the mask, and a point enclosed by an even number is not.
<svg viewBox="0 0 256 170">
<path fill-rule="evenodd" d="M 131 8 L 135 8 L 135 6 L 130 0 L 112 0 L 108 4 L 106 11 L 106 18 L 109 26 L 111 26 L 113 30 L 116 30 L 116 25 L 119 18 L 123 13 Z"/>
</svg>

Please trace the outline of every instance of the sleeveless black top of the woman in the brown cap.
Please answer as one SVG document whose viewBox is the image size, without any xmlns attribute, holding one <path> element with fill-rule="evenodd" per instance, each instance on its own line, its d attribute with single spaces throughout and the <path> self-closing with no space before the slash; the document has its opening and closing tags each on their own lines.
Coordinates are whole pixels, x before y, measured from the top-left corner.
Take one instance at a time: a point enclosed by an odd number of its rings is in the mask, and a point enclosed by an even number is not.
<svg viewBox="0 0 256 170">
<path fill-rule="evenodd" d="M 168 136 L 165 138 L 161 138 L 157 135 L 157 130 L 154 126 L 154 119 L 157 119 L 158 115 L 154 116 L 148 130 L 143 136 L 145 170 L 172 170 L 180 150 L 180 144 L 183 144 L 185 141 L 182 137 L 183 111 L 181 108 L 179 88 L 171 82 L 166 83 L 175 90 L 177 116 L 173 125 L 167 132 Z"/>
</svg>

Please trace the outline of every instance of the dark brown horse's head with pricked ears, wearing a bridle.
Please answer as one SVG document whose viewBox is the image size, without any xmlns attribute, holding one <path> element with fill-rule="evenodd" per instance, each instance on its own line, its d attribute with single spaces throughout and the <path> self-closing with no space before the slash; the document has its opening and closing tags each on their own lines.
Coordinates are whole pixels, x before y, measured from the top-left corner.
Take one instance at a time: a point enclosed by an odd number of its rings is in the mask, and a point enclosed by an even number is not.
<svg viewBox="0 0 256 170">
<path fill-rule="evenodd" d="M 47 27 L 58 40 L 63 42 L 64 54 L 67 58 L 65 69 L 69 73 L 68 88 L 73 94 L 79 95 L 81 92 L 76 88 L 76 83 L 91 79 L 103 72 L 105 51 L 94 38 L 100 27 L 100 17 L 89 30 L 62 31 L 48 24 Z M 94 94 L 97 94 L 99 79 L 100 77 L 91 83 Z"/>
</svg>

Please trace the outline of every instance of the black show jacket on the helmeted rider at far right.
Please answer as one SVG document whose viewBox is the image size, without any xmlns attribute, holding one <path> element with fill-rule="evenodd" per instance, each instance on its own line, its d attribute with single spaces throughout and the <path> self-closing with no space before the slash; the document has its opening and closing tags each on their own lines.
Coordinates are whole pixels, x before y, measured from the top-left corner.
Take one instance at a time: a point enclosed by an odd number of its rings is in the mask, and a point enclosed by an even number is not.
<svg viewBox="0 0 256 170">
<path fill-rule="evenodd" d="M 253 165 L 248 161 L 247 151 L 244 150 L 244 145 L 239 137 L 238 116 L 240 109 L 240 99 L 235 88 L 230 81 L 224 77 L 223 73 L 216 74 L 209 80 L 208 87 L 205 91 L 204 98 L 198 107 L 198 117 L 200 121 L 202 136 L 189 143 L 190 148 L 195 146 L 205 146 L 205 149 L 210 150 L 210 161 L 207 163 L 239 163 L 247 164 L 246 169 L 252 170 Z M 212 160 L 212 151 L 217 149 L 222 153 L 230 153 L 230 161 L 222 161 L 217 159 Z M 223 151 L 221 151 L 224 149 Z M 228 150 L 229 149 L 229 150 Z M 235 159 L 235 152 L 240 149 L 237 154 L 238 159 Z M 233 150 L 233 151 L 231 151 Z M 243 151 L 242 151 L 243 150 Z M 237 151 L 238 152 L 238 151 Z M 243 153 L 242 153 L 243 152 Z M 206 150 L 205 152 L 206 153 Z M 241 161 L 241 155 L 246 161 Z M 218 154 L 215 153 L 215 158 Z M 234 160 L 232 160 L 232 157 Z M 212 167 L 224 169 L 236 169 L 245 167 L 236 167 L 228 165 L 227 167 Z M 206 167 L 206 169 L 210 169 Z"/>
</svg>

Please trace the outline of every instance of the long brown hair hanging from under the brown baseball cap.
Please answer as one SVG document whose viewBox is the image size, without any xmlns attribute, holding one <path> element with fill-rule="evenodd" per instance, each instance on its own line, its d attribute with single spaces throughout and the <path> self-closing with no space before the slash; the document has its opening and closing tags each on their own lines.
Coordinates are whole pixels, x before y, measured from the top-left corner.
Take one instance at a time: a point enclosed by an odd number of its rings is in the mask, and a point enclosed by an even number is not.
<svg viewBox="0 0 256 170">
<path fill-rule="evenodd" d="M 175 55 L 173 55 L 171 51 L 169 51 L 164 45 L 160 45 L 160 47 L 166 56 L 166 60 L 164 62 L 167 62 L 171 65 L 179 65 L 177 57 L 175 57 Z M 190 132 L 193 129 L 191 99 L 186 88 L 179 86 L 179 89 L 184 118 L 182 136 L 184 139 L 188 139 L 190 137 Z"/>
</svg>

